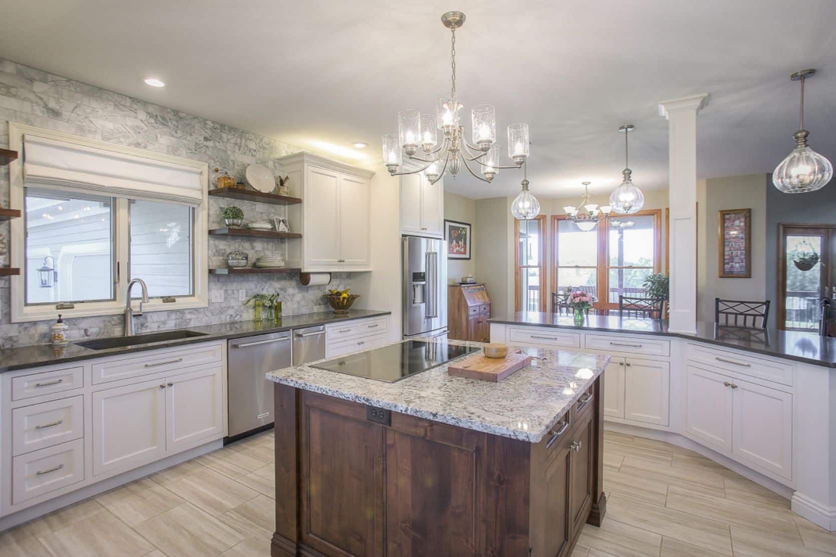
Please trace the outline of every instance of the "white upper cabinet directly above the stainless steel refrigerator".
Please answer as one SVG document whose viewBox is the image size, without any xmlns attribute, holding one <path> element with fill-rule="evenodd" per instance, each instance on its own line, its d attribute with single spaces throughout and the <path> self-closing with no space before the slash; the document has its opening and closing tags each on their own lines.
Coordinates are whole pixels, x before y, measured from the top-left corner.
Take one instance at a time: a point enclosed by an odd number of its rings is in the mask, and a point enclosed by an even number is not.
<svg viewBox="0 0 836 557">
<path fill-rule="evenodd" d="M 419 174 L 400 177 L 400 233 L 444 238 L 444 180 Z"/>
</svg>

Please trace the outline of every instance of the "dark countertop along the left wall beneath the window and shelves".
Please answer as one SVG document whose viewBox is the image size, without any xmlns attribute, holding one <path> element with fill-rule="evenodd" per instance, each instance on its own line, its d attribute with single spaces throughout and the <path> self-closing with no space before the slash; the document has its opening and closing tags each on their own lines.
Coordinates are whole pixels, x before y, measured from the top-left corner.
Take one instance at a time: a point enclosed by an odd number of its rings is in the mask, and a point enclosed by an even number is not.
<svg viewBox="0 0 836 557">
<path fill-rule="evenodd" d="M 330 323 L 362 319 L 364 317 L 375 317 L 389 315 L 391 311 L 375 310 L 349 310 L 348 313 L 337 315 L 331 311 L 319 311 L 317 313 L 302 313 L 295 316 L 286 316 L 278 322 L 272 321 L 242 321 L 217 323 L 216 325 L 203 325 L 200 327 L 186 327 L 183 330 L 205 333 L 200 337 L 179 338 L 166 342 L 151 342 L 149 344 L 136 344 L 130 347 L 107 348 L 104 350 L 93 350 L 81 347 L 70 342 L 63 347 L 54 347 L 48 344 L 40 344 L 32 347 L 16 347 L 0 350 L 0 372 L 12 372 L 18 369 L 37 366 L 51 366 L 58 363 L 75 362 L 87 360 L 94 357 L 113 356 L 115 354 L 126 354 L 130 352 L 142 352 L 144 350 L 155 350 L 157 348 L 176 347 L 183 344 L 194 344 L 196 342 L 217 341 L 228 338 L 252 337 L 270 332 L 282 332 L 301 327 L 314 327 L 317 325 L 329 325 Z M 162 332 L 162 331 L 148 331 Z M 140 333 L 145 334 L 145 332 Z M 79 339 L 76 342 L 93 340 L 93 338 Z"/>
</svg>

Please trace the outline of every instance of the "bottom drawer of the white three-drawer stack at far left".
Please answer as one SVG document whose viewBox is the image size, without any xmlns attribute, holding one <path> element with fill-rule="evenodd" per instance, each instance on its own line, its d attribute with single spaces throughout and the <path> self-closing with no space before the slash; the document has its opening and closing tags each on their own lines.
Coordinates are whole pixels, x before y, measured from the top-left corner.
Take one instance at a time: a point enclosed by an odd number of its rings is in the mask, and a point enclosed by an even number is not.
<svg viewBox="0 0 836 557">
<path fill-rule="evenodd" d="M 12 503 L 23 503 L 83 479 L 84 439 L 23 454 L 12 460 Z"/>
</svg>

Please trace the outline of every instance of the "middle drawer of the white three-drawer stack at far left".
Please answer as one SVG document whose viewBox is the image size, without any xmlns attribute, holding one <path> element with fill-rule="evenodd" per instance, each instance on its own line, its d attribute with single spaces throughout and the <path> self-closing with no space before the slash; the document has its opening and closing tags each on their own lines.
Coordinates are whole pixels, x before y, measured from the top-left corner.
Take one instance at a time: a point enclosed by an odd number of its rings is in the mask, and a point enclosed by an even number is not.
<svg viewBox="0 0 836 557">
<path fill-rule="evenodd" d="M 12 454 L 31 453 L 84 436 L 84 395 L 12 411 Z"/>
</svg>

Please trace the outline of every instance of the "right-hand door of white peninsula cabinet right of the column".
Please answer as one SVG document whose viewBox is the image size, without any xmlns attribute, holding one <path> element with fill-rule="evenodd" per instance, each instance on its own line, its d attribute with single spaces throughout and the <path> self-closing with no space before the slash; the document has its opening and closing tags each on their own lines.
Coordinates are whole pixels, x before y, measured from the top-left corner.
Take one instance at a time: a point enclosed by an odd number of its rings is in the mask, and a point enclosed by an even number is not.
<svg viewBox="0 0 836 557">
<path fill-rule="evenodd" d="M 732 453 L 793 478 L 793 395 L 733 380 Z"/>
</svg>

